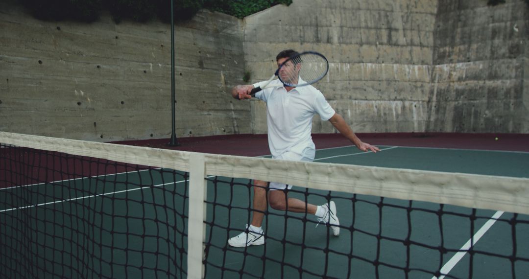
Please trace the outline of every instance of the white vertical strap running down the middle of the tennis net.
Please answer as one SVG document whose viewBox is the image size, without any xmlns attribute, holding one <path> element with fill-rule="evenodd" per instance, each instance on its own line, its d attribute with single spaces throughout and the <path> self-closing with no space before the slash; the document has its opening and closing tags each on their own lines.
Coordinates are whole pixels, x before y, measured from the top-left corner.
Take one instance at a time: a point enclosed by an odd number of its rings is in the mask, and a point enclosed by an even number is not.
<svg viewBox="0 0 529 279">
<path fill-rule="evenodd" d="M 205 155 L 189 156 L 189 222 L 187 248 L 187 277 L 203 278 L 204 239 L 206 236 L 206 165 Z"/>
</svg>

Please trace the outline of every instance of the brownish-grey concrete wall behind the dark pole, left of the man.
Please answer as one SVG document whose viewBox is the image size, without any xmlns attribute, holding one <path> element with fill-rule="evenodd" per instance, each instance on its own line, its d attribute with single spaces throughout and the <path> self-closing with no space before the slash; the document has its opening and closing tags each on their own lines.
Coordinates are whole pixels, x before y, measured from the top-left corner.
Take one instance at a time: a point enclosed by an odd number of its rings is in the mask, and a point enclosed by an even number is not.
<svg viewBox="0 0 529 279">
<path fill-rule="evenodd" d="M 169 137 L 170 25 L 42 22 L 0 3 L 0 131 L 93 141 Z M 241 21 L 175 27 L 177 136 L 248 133 Z"/>
</svg>

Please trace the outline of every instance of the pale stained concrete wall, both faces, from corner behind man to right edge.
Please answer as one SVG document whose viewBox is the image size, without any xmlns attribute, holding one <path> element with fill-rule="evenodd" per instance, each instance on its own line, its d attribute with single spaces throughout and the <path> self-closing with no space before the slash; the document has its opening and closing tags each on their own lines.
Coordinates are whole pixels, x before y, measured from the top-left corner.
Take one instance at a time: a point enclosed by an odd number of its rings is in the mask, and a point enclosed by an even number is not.
<svg viewBox="0 0 529 279">
<path fill-rule="evenodd" d="M 298 0 L 245 18 L 245 60 L 257 81 L 282 49 L 325 53 L 316 87 L 356 132 L 529 133 L 527 11 L 522 0 Z M 251 106 L 264 133 L 265 107 Z"/>
</svg>

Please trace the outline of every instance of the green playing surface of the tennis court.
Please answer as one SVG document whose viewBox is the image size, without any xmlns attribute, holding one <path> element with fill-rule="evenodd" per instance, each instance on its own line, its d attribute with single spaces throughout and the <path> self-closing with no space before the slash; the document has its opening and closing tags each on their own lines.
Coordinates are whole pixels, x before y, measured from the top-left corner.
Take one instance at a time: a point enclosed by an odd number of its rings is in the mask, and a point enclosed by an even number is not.
<svg viewBox="0 0 529 279">
<path fill-rule="evenodd" d="M 318 150 L 315 161 L 529 175 L 529 153 L 525 152 L 379 147 L 382 152 L 376 154 L 354 147 Z M 22 260 L 30 258 L 26 250 L 40 255 L 32 270 L 15 267 L 7 273 L 11 278 L 20 274 L 40 274 L 40 278 L 60 277 L 57 274 L 70 278 L 186 277 L 185 180 L 180 172 L 142 170 L 1 189 L 2 254 L 19 253 Z M 432 278 L 445 265 L 453 266 L 449 278 L 468 278 L 469 266 L 474 278 L 512 278 L 513 269 L 517 278 L 529 275 L 529 262 L 513 265 L 508 258 L 513 254 L 529 258 L 529 216 L 299 187 L 292 197 L 313 204 L 323 204 L 332 196 L 342 227 L 339 237 L 332 236 L 323 224 L 316 227 L 314 216 L 269 209 L 264 225 L 266 245 L 229 247 L 227 239 L 250 222 L 249 181 L 208 180 L 206 278 L 406 278 L 405 269 L 408 278 Z M 5 201 L 11 199 L 19 204 L 6 208 Z M 449 213 L 437 215 L 440 210 Z M 498 221 L 485 229 L 473 249 L 501 256 L 478 253 L 471 257 L 467 253 L 459 261 L 451 260 L 454 250 L 487 222 L 490 225 L 493 215 Z M 525 222 L 511 226 L 509 220 L 514 216 Z M 0 262 L 16 266 L 9 262 L 14 258 Z"/>
</svg>

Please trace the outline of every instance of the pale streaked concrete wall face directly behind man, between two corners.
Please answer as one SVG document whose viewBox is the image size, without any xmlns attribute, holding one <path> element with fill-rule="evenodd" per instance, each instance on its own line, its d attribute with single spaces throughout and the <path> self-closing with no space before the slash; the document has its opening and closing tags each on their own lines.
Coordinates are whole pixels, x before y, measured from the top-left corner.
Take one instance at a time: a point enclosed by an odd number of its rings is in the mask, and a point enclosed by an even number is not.
<svg viewBox="0 0 529 279">
<path fill-rule="evenodd" d="M 316 84 L 356 132 L 423 132 L 431 82 L 436 0 L 303 0 L 244 20 L 253 81 L 268 79 L 283 49 L 316 50 L 330 61 Z M 252 101 L 253 132 L 266 132 Z M 316 118 L 313 132 L 332 133 Z"/>
</svg>

